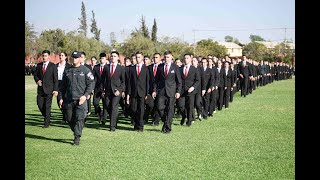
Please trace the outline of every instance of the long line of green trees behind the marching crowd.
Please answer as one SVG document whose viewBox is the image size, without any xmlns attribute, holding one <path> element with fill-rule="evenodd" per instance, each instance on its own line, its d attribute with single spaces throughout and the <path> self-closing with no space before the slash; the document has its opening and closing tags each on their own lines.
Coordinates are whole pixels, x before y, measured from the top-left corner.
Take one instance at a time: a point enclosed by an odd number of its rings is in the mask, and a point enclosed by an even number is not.
<svg viewBox="0 0 320 180">
<path fill-rule="evenodd" d="M 207 56 L 212 54 L 216 57 L 223 57 L 227 54 L 225 46 L 219 45 L 212 39 L 202 39 L 194 45 L 182 41 L 175 37 L 157 37 L 157 22 L 154 19 L 151 29 L 151 36 L 146 25 L 145 17 L 142 15 L 140 19 L 140 27 L 132 30 L 130 37 L 125 39 L 121 44 L 117 43 L 114 32 L 110 33 L 110 45 L 103 42 L 100 38 L 101 29 L 98 28 L 95 20 L 95 13 L 92 10 L 92 18 L 90 24 L 90 32 L 92 38 L 87 37 L 87 16 L 85 4 L 81 4 L 81 17 L 79 28 L 74 31 L 66 32 L 61 29 L 49 29 L 41 32 L 37 36 L 34 27 L 28 21 L 25 21 L 25 55 L 37 58 L 43 49 L 49 49 L 52 53 L 72 52 L 74 50 L 85 51 L 88 57 L 98 56 L 99 53 L 109 53 L 112 49 L 118 50 L 125 56 L 131 56 L 136 51 L 142 51 L 144 54 L 152 56 L 155 52 L 164 52 L 170 50 L 175 58 L 182 58 L 184 54 L 195 54 L 196 56 Z M 274 49 L 268 49 L 265 45 L 255 41 L 264 41 L 258 35 L 250 35 L 251 42 L 242 44 L 237 38 L 225 36 L 226 42 L 234 42 L 243 48 L 243 54 L 246 54 L 257 61 L 283 61 L 292 62 L 293 52 L 285 43 L 277 45 Z"/>
</svg>

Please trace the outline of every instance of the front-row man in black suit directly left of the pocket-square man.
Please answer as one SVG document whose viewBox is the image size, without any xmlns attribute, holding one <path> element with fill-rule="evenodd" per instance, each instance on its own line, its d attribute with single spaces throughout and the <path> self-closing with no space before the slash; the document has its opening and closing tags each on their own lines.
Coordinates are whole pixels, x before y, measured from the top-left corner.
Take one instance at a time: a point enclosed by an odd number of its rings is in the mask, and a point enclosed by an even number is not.
<svg viewBox="0 0 320 180">
<path fill-rule="evenodd" d="M 134 130 L 142 132 L 144 127 L 145 99 L 149 90 L 149 70 L 143 64 L 142 52 L 136 53 L 137 64 L 130 68 L 127 101 L 131 97 L 131 112 Z"/>
</svg>

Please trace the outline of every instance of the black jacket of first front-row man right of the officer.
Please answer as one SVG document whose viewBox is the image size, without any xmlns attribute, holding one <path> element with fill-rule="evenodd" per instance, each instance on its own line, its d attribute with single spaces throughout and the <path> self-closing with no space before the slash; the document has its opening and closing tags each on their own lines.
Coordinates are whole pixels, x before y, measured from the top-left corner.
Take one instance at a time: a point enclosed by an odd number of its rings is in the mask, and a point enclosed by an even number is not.
<svg viewBox="0 0 320 180">
<path fill-rule="evenodd" d="M 102 91 L 108 96 L 113 94 L 116 90 L 120 92 L 120 95 L 123 90 L 125 90 L 125 67 L 117 64 L 116 69 L 114 70 L 113 76 L 110 76 L 110 66 L 108 64 L 102 73 Z M 100 86 L 101 87 L 101 86 Z"/>
</svg>

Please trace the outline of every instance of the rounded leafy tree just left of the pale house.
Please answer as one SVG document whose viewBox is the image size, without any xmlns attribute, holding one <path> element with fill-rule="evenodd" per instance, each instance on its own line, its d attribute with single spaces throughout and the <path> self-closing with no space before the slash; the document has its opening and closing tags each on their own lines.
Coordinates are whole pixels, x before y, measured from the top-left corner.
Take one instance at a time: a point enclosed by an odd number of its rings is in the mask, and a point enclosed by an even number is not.
<svg viewBox="0 0 320 180">
<path fill-rule="evenodd" d="M 223 57 L 227 54 L 227 48 L 214 42 L 212 39 L 204 39 L 197 42 L 196 55 L 206 57 L 212 54 L 216 57 Z"/>
</svg>

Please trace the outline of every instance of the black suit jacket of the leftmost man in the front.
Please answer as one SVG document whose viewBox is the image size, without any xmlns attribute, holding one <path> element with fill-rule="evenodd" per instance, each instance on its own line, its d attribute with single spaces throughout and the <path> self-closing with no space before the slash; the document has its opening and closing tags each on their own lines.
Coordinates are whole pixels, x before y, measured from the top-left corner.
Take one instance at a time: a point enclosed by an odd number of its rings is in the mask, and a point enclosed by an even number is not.
<svg viewBox="0 0 320 180">
<path fill-rule="evenodd" d="M 34 81 L 37 83 L 39 80 L 42 81 L 42 86 L 38 86 L 38 94 L 52 94 L 53 91 L 59 90 L 58 82 L 58 68 L 56 64 L 52 62 L 48 63 L 45 73 L 42 75 L 43 62 L 38 63 L 35 73 Z"/>
</svg>

